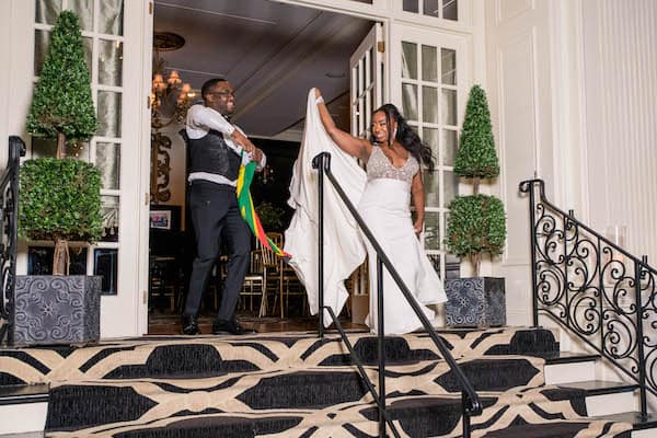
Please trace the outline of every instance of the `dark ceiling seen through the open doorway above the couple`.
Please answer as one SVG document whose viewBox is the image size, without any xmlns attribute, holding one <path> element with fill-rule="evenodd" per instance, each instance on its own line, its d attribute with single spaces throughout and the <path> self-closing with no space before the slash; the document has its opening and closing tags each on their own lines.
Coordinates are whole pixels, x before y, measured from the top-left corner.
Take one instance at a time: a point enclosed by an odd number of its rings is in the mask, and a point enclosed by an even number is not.
<svg viewBox="0 0 657 438">
<path fill-rule="evenodd" d="M 153 31 L 186 42 L 160 54 L 166 69 L 177 70 L 194 89 L 214 77 L 228 79 L 238 100 L 233 120 L 249 135 L 274 137 L 299 127 L 312 87 L 326 102 L 335 101 L 338 118 L 348 118 L 349 57 L 372 22 L 267 0 L 154 5 Z M 348 127 L 348 120 L 336 122 Z"/>
</svg>

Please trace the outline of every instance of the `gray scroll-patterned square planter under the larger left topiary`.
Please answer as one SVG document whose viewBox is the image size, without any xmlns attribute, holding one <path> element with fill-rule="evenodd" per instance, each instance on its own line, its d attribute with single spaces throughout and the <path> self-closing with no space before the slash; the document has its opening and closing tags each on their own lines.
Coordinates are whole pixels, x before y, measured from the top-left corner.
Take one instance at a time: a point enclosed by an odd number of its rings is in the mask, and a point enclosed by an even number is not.
<svg viewBox="0 0 657 438">
<path fill-rule="evenodd" d="M 16 276 L 14 345 L 99 341 L 102 279 L 85 275 Z"/>
</svg>

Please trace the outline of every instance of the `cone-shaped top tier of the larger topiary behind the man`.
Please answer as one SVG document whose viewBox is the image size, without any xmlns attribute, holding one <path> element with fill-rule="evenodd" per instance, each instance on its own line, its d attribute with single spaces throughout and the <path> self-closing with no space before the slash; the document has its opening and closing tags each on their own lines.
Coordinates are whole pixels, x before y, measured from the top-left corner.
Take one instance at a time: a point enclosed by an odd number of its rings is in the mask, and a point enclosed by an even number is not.
<svg viewBox="0 0 657 438">
<path fill-rule="evenodd" d="M 88 140 L 96 131 L 82 33 L 71 11 L 59 14 L 50 34 L 26 127 L 34 137 L 57 138 L 57 158 L 65 157 L 66 142 Z"/>
</svg>

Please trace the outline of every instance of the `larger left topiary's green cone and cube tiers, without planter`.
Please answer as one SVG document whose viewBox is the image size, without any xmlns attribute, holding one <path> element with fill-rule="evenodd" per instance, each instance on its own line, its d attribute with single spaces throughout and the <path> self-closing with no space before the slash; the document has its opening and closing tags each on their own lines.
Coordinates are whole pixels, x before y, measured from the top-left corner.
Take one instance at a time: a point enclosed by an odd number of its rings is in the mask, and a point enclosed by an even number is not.
<svg viewBox="0 0 657 438">
<path fill-rule="evenodd" d="M 71 11 L 59 14 L 27 115 L 34 137 L 57 138 L 57 159 L 28 160 L 21 171 L 19 230 L 53 240 L 53 274 L 68 274 L 68 240 L 93 242 L 102 231 L 101 180 L 85 162 L 62 159 L 66 142 L 88 140 L 97 119 L 82 33 Z"/>
</svg>

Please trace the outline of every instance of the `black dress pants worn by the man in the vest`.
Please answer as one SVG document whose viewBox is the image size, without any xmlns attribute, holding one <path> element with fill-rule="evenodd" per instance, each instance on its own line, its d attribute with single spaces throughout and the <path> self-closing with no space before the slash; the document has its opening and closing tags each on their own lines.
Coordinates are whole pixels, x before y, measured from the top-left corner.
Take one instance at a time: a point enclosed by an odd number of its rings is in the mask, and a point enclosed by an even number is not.
<svg viewBox="0 0 657 438">
<path fill-rule="evenodd" d="M 229 249 L 228 272 L 217 319 L 230 321 L 234 318 L 251 252 L 251 231 L 240 216 L 235 188 L 194 181 L 189 191 L 189 208 L 197 254 L 192 266 L 185 315 L 198 314 L 212 267 L 219 260 L 222 239 L 226 239 Z"/>
</svg>

